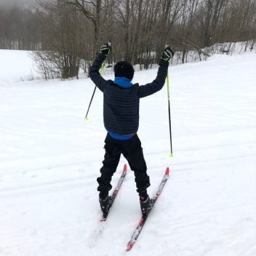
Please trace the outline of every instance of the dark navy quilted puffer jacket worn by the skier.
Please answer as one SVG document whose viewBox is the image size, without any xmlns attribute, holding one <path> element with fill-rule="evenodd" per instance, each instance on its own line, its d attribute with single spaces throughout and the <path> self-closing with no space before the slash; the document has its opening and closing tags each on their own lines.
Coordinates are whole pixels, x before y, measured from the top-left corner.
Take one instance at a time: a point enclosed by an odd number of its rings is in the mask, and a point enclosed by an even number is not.
<svg viewBox="0 0 256 256">
<path fill-rule="evenodd" d="M 133 84 L 129 88 L 121 88 L 112 80 L 106 81 L 99 70 L 105 55 L 98 54 L 89 68 L 89 77 L 104 94 L 103 116 L 107 131 L 117 135 L 132 135 L 139 127 L 140 98 L 152 95 L 164 87 L 168 64 L 161 60 L 156 79 L 149 84 L 139 86 Z"/>
</svg>

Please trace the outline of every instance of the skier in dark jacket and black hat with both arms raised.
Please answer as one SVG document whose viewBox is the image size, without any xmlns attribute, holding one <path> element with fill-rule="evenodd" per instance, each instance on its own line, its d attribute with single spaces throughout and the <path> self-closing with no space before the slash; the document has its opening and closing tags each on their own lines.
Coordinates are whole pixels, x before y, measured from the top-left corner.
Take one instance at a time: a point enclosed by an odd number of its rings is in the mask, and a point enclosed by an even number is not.
<svg viewBox="0 0 256 256">
<path fill-rule="evenodd" d="M 121 154 L 127 159 L 130 168 L 135 173 L 137 193 L 140 196 L 140 208 L 143 215 L 148 214 L 151 199 L 147 188 L 150 186 L 147 166 L 143 156 L 140 139 L 137 136 L 139 127 L 140 98 L 152 95 L 164 87 L 167 77 L 169 61 L 174 52 L 167 45 L 159 61 L 159 70 L 156 79 L 149 84 L 139 86 L 132 84 L 134 68 L 126 61 L 120 61 L 114 66 L 114 81 L 106 81 L 99 70 L 105 58 L 111 52 L 111 44 L 107 43 L 100 48 L 100 53 L 95 58 L 89 69 L 89 77 L 104 94 L 103 119 L 107 130 L 105 137 L 105 156 L 101 176 L 97 178 L 97 191 L 100 191 L 100 208 L 103 213 L 108 210 L 111 196 L 111 178 L 119 164 Z"/>
</svg>

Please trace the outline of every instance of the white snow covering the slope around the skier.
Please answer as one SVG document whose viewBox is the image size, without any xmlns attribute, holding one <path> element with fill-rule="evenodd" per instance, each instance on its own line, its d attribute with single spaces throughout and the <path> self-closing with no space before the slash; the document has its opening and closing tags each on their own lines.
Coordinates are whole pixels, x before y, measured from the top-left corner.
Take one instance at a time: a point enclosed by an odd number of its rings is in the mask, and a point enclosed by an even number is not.
<svg viewBox="0 0 256 256">
<path fill-rule="evenodd" d="M 140 206 L 130 170 L 99 221 L 103 95 L 97 90 L 85 122 L 92 81 L 22 81 L 31 65 L 27 52 L 0 50 L 0 255 L 256 255 L 255 53 L 169 67 L 172 158 L 166 87 L 141 100 L 148 192 L 171 172 L 131 252 Z"/>
</svg>

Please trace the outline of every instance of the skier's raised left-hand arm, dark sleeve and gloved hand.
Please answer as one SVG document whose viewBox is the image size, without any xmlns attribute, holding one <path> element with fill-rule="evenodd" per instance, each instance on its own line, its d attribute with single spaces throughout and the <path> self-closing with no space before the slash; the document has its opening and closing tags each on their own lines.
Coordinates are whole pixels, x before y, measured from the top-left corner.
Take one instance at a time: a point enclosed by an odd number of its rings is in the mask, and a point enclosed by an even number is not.
<svg viewBox="0 0 256 256">
<path fill-rule="evenodd" d="M 92 66 L 89 68 L 89 78 L 92 79 L 95 85 L 102 92 L 105 85 L 107 84 L 107 81 L 103 79 L 99 71 L 100 71 L 101 65 L 103 65 L 103 62 L 110 51 L 111 51 L 110 43 L 103 45 L 103 47 L 100 48 L 100 53 L 97 55 L 94 62 L 92 63 Z"/>
</svg>

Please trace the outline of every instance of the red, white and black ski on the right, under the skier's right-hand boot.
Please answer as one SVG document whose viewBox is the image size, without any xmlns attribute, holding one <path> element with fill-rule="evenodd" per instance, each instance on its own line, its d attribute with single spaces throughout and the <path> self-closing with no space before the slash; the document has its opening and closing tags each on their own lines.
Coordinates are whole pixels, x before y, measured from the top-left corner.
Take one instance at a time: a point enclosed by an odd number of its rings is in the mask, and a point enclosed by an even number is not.
<svg viewBox="0 0 256 256">
<path fill-rule="evenodd" d="M 148 212 L 148 215 L 150 214 L 151 210 L 153 209 L 153 206 L 156 204 L 156 200 L 159 198 L 161 191 L 163 190 L 164 185 L 167 182 L 168 177 L 169 177 L 169 167 L 167 167 L 166 171 L 164 172 L 164 177 L 161 180 L 161 183 L 159 184 L 159 189 L 156 192 L 155 196 L 153 196 L 153 199 L 151 202 L 151 209 Z M 132 233 L 132 237 L 129 240 L 129 243 L 127 244 L 127 251 L 130 251 L 132 249 L 132 247 L 134 246 L 135 241 L 137 240 L 138 236 L 140 235 L 140 232 L 143 229 L 145 221 L 148 219 L 148 215 L 140 217 L 140 221 L 139 221 L 139 223 L 137 223 L 135 231 Z"/>
</svg>

